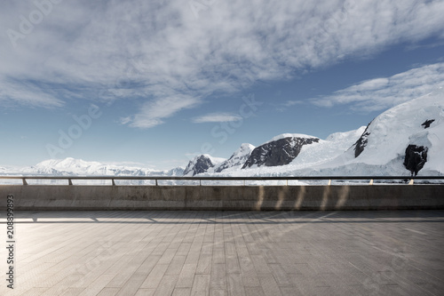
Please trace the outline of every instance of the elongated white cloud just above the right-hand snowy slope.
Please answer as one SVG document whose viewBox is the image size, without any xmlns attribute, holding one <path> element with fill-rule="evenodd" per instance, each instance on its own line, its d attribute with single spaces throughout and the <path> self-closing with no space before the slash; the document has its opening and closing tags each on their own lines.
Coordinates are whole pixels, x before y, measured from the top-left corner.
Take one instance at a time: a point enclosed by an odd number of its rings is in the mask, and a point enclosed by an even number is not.
<svg viewBox="0 0 444 296">
<path fill-rule="evenodd" d="M 390 108 L 444 86 L 444 63 L 413 68 L 406 72 L 354 84 L 331 95 L 312 99 L 313 104 L 332 107 L 351 104 L 363 111 Z"/>
</svg>

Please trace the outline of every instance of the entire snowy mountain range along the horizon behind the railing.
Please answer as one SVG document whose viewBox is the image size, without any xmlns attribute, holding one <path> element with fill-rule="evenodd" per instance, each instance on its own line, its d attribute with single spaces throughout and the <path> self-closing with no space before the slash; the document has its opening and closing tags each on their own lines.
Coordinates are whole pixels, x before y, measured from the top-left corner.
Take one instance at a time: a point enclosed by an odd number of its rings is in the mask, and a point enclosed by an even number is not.
<svg viewBox="0 0 444 296">
<path fill-rule="evenodd" d="M 255 147 L 243 143 L 229 158 L 195 156 L 186 168 L 156 171 L 66 158 L 1 174 L 115 176 L 444 175 L 444 94 L 440 89 L 377 116 L 367 127 L 325 140 L 283 133 Z"/>
</svg>

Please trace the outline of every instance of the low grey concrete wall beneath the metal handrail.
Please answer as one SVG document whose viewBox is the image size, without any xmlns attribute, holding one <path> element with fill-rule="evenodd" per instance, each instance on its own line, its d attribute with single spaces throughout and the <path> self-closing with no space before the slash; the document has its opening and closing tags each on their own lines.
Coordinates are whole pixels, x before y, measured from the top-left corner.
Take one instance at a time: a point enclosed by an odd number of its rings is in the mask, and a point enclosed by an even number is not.
<svg viewBox="0 0 444 296">
<path fill-rule="evenodd" d="M 45 186 L 1 185 L 14 210 L 394 210 L 444 209 L 442 185 Z"/>
</svg>

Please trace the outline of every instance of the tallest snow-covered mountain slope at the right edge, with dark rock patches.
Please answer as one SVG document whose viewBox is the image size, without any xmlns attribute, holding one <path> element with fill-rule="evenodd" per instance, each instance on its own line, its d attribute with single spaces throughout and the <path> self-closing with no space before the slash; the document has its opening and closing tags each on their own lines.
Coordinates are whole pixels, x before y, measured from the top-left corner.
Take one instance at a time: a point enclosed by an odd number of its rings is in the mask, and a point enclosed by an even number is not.
<svg viewBox="0 0 444 296">
<path fill-rule="evenodd" d="M 377 116 L 353 148 L 324 167 L 378 174 L 444 174 L 442 89 Z"/>
</svg>

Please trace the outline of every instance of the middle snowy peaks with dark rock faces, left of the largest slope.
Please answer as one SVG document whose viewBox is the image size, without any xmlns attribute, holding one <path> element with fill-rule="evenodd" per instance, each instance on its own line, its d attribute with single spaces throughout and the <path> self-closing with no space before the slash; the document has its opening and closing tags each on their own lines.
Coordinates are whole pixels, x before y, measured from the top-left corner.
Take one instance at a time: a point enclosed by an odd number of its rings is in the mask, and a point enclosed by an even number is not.
<svg viewBox="0 0 444 296">
<path fill-rule="evenodd" d="M 336 132 L 326 140 L 299 134 L 283 133 L 255 148 L 243 143 L 225 161 L 210 155 L 195 156 L 184 175 L 258 176 L 285 174 L 295 167 L 307 168 L 334 159 L 352 147 L 365 127 L 351 132 Z"/>
</svg>

